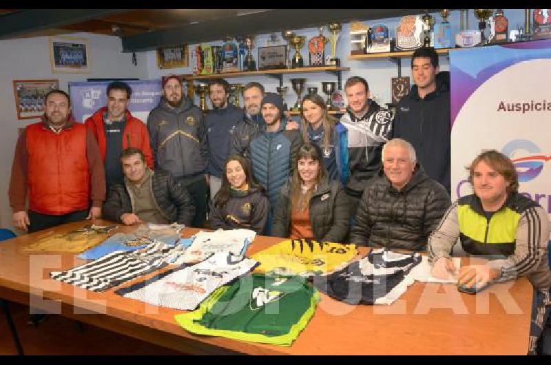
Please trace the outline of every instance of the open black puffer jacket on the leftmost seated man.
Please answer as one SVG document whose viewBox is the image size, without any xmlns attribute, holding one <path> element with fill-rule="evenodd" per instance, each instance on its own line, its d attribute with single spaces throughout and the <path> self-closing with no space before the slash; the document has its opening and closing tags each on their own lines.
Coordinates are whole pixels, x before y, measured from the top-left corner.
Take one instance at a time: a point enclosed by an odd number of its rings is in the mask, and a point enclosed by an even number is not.
<svg viewBox="0 0 551 365">
<path fill-rule="evenodd" d="M 185 187 L 167 171 L 156 169 L 152 172 L 152 189 L 157 208 L 170 222 L 178 222 L 187 227 L 195 216 L 195 207 Z M 103 205 L 103 217 L 121 222 L 124 213 L 132 213 L 132 200 L 123 184 L 112 185 L 109 196 Z"/>
</svg>

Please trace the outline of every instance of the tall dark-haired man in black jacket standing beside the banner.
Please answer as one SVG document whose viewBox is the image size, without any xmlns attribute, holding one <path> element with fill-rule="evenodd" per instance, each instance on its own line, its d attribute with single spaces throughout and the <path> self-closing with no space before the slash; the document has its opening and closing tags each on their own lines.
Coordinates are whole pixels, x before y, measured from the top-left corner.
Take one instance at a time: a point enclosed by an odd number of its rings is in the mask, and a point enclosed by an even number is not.
<svg viewBox="0 0 551 365">
<path fill-rule="evenodd" d="M 434 48 L 420 48 L 411 60 L 411 92 L 397 105 L 393 137 L 415 147 L 426 174 L 450 193 L 450 73 L 439 72 Z"/>
</svg>

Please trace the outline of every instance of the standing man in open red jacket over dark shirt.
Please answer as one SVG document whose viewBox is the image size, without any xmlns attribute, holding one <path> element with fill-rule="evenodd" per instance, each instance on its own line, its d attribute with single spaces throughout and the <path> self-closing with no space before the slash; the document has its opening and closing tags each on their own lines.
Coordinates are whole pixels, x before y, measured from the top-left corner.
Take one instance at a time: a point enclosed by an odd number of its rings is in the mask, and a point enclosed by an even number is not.
<svg viewBox="0 0 551 365">
<path fill-rule="evenodd" d="M 102 107 L 85 125 L 98 141 L 101 159 L 105 165 L 107 189 L 123 181 L 121 152 L 128 147 L 142 150 L 145 163 L 153 169 L 153 155 L 149 145 L 147 127 L 128 111 L 132 89 L 127 83 L 113 81 L 107 85 L 107 106 Z"/>
</svg>

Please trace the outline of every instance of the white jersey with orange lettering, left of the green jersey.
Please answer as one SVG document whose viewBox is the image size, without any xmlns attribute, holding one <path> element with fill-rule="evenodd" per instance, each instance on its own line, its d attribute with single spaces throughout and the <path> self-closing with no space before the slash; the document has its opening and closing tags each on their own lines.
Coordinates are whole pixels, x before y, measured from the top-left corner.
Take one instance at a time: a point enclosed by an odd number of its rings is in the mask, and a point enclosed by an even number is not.
<svg viewBox="0 0 551 365">
<path fill-rule="evenodd" d="M 242 255 L 218 252 L 193 266 L 166 271 L 115 293 L 155 306 L 191 311 L 215 289 L 245 275 L 257 264 Z"/>
</svg>

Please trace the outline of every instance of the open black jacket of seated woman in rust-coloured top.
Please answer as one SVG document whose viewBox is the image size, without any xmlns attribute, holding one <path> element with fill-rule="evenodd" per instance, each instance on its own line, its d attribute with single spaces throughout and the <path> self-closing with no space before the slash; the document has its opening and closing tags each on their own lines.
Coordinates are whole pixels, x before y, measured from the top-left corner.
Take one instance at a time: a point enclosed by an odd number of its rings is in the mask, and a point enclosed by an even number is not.
<svg viewBox="0 0 551 365">
<path fill-rule="evenodd" d="M 318 242 L 342 243 L 349 234 L 350 209 L 346 193 L 336 180 L 325 178 L 310 199 L 309 218 L 314 239 Z M 271 236 L 289 237 L 291 229 L 291 198 L 289 183 L 280 191 L 273 213 Z"/>
</svg>

